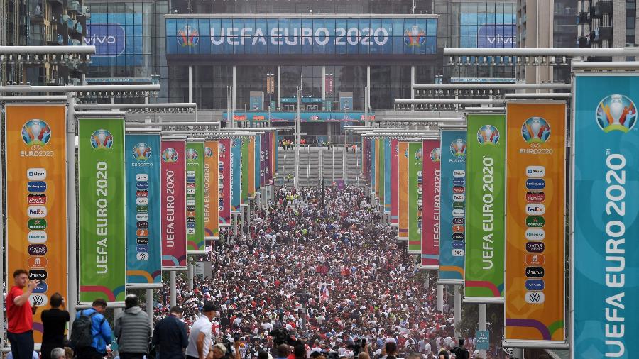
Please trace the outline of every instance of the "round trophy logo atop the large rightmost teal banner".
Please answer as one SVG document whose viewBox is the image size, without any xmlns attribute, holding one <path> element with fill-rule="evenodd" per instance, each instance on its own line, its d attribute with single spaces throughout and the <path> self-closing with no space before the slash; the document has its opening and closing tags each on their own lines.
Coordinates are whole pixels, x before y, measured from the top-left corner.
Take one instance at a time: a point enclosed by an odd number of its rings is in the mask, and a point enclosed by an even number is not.
<svg viewBox="0 0 639 359">
<path fill-rule="evenodd" d="M 610 131 L 626 133 L 637 122 L 637 108 L 627 96 L 613 94 L 599 101 L 596 119 L 597 125 L 605 133 Z"/>
</svg>

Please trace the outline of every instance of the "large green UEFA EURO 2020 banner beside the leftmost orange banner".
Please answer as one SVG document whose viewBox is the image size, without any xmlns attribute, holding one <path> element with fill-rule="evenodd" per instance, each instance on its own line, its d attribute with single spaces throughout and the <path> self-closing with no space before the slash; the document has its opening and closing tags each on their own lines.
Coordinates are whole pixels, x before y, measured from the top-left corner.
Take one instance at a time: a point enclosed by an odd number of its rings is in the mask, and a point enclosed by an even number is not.
<svg viewBox="0 0 639 359">
<path fill-rule="evenodd" d="M 79 300 L 122 302 L 126 295 L 124 118 L 81 118 L 77 153 Z M 148 222 L 141 226 L 148 229 Z"/>
</svg>

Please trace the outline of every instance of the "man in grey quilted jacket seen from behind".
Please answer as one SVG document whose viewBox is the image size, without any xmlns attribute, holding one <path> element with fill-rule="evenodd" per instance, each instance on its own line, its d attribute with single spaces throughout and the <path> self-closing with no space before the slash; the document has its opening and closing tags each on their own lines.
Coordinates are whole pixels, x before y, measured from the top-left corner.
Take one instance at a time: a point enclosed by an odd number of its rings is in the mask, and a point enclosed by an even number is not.
<svg viewBox="0 0 639 359">
<path fill-rule="evenodd" d="M 116 319 L 114 336 L 118 338 L 121 359 L 143 359 L 148 354 L 151 326 L 148 315 L 138 306 L 138 296 L 129 294 L 124 299 L 124 313 Z"/>
</svg>

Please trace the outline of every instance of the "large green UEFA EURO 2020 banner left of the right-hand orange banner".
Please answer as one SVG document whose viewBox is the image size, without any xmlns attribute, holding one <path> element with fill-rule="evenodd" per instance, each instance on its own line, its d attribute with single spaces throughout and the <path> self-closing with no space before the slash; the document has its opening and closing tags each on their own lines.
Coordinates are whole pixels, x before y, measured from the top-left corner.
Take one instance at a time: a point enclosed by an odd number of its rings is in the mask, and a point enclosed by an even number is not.
<svg viewBox="0 0 639 359">
<path fill-rule="evenodd" d="M 506 121 L 503 114 L 469 114 L 466 123 L 464 300 L 503 303 Z"/>
</svg>

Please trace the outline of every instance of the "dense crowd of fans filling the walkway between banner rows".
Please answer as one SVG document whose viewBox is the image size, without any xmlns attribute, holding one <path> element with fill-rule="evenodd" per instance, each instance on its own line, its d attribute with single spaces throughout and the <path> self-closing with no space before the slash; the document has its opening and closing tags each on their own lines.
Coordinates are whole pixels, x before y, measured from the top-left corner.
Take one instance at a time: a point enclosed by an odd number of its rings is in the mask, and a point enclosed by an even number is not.
<svg viewBox="0 0 639 359">
<path fill-rule="evenodd" d="M 307 356 L 351 358 L 365 339 L 373 359 L 388 354 L 389 342 L 404 358 L 439 358 L 457 346 L 450 306 L 435 310 L 434 281 L 427 285 L 364 191 L 325 191 L 280 188 L 266 211 L 251 212 L 251 225 L 231 245 L 216 243 L 212 277 L 196 280 L 194 289 L 178 281 L 182 320 L 191 326 L 212 302 L 213 336 L 229 353 L 241 341 L 241 359 L 260 350 L 293 355 L 281 343 L 304 343 Z M 168 313 L 168 291 L 157 319 Z M 471 358 L 474 343 L 464 340 Z"/>
</svg>

